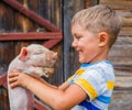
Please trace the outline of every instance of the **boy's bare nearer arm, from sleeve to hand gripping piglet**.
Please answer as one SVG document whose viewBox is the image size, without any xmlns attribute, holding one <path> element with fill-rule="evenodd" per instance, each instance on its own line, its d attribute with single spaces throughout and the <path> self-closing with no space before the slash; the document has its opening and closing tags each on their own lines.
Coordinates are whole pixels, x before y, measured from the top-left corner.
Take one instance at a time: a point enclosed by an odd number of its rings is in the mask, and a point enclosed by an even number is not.
<svg viewBox="0 0 132 110">
<path fill-rule="evenodd" d="M 67 110 L 87 98 L 87 94 L 76 84 L 69 86 L 65 82 L 58 89 L 22 73 L 11 73 L 9 77 L 11 87 L 22 86 L 31 90 L 53 109 Z"/>
</svg>

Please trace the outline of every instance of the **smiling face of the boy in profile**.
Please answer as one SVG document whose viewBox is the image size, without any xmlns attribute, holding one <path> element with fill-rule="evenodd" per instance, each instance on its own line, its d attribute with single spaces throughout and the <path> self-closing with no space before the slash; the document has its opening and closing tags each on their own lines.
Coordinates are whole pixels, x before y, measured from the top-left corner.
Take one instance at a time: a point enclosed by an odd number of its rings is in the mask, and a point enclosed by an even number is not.
<svg viewBox="0 0 132 110">
<path fill-rule="evenodd" d="M 82 29 L 79 24 L 72 25 L 72 34 L 74 37 L 72 46 L 78 52 L 79 62 L 96 62 L 99 54 L 98 36 Z"/>
</svg>

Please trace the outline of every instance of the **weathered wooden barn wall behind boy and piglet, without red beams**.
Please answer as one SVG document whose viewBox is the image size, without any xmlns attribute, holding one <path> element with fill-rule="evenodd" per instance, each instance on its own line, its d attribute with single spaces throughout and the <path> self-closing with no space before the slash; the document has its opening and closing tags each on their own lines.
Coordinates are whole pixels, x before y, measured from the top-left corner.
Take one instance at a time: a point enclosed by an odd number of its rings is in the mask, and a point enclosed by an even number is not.
<svg viewBox="0 0 132 110">
<path fill-rule="evenodd" d="M 70 46 L 70 20 L 73 15 L 84 9 L 98 3 L 105 3 L 117 10 L 123 18 L 123 26 L 119 37 L 111 48 L 109 59 L 114 65 L 116 88 L 109 110 L 132 109 L 132 0 L 18 0 L 25 8 L 62 30 L 64 38 L 52 50 L 59 53 L 59 61 L 55 74 L 47 81 L 59 85 L 79 67 L 78 56 Z M 0 1 L 0 33 L 36 32 L 41 26 L 16 10 Z M 42 44 L 45 41 L 6 41 L 0 42 L 0 75 L 7 72 L 8 65 L 19 54 L 20 48 L 30 43 Z M 7 110 L 1 98 L 7 90 L 0 89 L 0 110 Z M 129 99 L 129 100 L 128 100 Z M 8 100 L 6 99 L 6 102 Z M 3 108 L 4 107 L 4 108 Z M 2 109 L 1 109 L 2 108 Z M 8 108 L 8 107 L 7 107 Z"/>
</svg>

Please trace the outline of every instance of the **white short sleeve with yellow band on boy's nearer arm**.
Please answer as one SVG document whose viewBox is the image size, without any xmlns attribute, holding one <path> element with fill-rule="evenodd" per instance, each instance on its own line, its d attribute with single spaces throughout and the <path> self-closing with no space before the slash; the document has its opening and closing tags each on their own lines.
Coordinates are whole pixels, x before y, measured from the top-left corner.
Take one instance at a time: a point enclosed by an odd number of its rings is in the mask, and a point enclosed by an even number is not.
<svg viewBox="0 0 132 110">
<path fill-rule="evenodd" d="M 106 90 L 106 79 L 98 69 L 88 69 L 75 79 L 74 84 L 77 84 L 86 91 L 89 100 L 94 100 Z"/>
</svg>

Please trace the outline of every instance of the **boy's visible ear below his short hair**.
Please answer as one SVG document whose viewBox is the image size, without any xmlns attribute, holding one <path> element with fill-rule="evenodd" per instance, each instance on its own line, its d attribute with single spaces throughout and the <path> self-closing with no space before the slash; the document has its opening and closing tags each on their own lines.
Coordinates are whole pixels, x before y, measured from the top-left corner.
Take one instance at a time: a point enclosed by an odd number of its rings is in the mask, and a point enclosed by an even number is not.
<svg viewBox="0 0 132 110">
<path fill-rule="evenodd" d="M 98 34 L 98 38 L 99 38 L 99 46 L 105 46 L 108 44 L 109 36 L 106 32 L 100 32 Z"/>
</svg>

